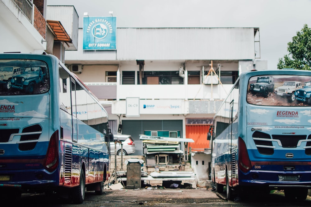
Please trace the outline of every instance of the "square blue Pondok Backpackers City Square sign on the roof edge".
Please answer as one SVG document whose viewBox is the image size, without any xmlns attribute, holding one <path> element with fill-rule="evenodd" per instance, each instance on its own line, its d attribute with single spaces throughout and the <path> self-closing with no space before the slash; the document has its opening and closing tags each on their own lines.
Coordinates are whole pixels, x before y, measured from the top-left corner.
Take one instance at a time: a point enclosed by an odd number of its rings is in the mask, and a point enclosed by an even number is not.
<svg viewBox="0 0 311 207">
<path fill-rule="evenodd" d="M 83 49 L 117 49 L 117 17 L 84 16 Z"/>
</svg>

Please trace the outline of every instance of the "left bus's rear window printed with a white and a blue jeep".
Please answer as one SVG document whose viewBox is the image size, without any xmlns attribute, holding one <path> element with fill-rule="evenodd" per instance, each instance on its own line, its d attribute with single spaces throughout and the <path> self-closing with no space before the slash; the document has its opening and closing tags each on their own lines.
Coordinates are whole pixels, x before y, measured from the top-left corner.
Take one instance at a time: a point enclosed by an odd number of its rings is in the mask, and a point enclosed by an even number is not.
<svg viewBox="0 0 311 207">
<path fill-rule="evenodd" d="M 0 60 L 0 95 L 41 94 L 49 91 L 49 68 L 39 60 Z"/>
</svg>

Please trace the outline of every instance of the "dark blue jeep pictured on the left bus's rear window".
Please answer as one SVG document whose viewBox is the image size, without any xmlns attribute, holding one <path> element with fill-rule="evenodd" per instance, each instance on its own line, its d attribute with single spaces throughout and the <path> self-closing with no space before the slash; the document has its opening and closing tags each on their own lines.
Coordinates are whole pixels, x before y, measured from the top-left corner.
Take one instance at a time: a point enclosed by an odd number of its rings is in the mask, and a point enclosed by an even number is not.
<svg viewBox="0 0 311 207">
<path fill-rule="evenodd" d="M 26 90 L 27 93 L 32 94 L 37 85 L 41 85 L 46 76 L 46 67 L 44 66 L 30 66 L 24 68 L 24 71 L 12 78 L 12 88 Z"/>
</svg>

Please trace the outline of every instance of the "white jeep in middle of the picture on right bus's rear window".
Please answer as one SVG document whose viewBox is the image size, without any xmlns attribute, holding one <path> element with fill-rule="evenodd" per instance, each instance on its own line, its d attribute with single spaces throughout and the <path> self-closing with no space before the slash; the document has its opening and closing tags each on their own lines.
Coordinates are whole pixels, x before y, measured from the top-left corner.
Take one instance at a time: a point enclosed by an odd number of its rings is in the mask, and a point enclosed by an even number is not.
<svg viewBox="0 0 311 207">
<path fill-rule="evenodd" d="M 285 81 L 283 86 L 274 89 L 274 93 L 278 96 L 287 97 L 289 101 L 295 101 L 295 91 L 302 88 L 299 81 Z"/>
</svg>

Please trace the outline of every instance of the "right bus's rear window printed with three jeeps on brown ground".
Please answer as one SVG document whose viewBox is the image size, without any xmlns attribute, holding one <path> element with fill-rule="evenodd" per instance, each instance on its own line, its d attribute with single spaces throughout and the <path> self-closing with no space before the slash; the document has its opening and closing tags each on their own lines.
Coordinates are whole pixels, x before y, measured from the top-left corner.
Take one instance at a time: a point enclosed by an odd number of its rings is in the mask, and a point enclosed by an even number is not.
<svg viewBox="0 0 311 207">
<path fill-rule="evenodd" d="M 310 106 L 311 77 L 253 76 L 248 80 L 247 102 L 261 106 Z"/>
</svg>

